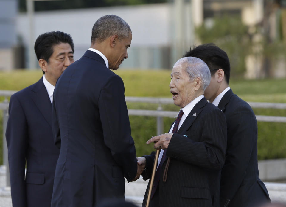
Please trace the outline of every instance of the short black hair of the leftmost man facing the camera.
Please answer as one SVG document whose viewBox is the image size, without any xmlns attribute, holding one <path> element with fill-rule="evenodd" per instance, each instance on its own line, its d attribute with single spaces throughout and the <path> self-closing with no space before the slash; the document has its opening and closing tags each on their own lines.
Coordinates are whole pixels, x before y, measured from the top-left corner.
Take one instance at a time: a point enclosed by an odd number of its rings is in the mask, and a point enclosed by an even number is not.
<svg viewBox="0 0 286 207">
<path fill-rule="evenodd" d="M 54 52 L 53 46 L 61 43 L 68 43 L 72 52 L 74 52 L 74 42 L 69 34 L 61 31 L 52 31 L 39 35 L 34 47 L 37 59 L 43 59 L 49 63 L 49 58 Z"/>
</svg>

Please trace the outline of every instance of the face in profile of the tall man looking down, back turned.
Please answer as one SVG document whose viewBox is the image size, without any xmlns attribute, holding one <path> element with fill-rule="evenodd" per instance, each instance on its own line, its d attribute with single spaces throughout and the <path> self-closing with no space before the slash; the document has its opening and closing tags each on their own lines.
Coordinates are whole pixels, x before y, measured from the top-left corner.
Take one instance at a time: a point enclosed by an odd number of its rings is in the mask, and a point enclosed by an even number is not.
<svg viewBox="0 0 286 207">
<path fill-rule="evenodd" d="M 124 59 L 128 58 L 127 49 L 131 45 L 132 34 L 129 31 L 129 35 L 125 39 L 117 40 L 114 46 L 114 52 L 110 60 L 108 60 L 108 66 L 111 70 L 117 70 L 119 65 Z"/>
</svg>

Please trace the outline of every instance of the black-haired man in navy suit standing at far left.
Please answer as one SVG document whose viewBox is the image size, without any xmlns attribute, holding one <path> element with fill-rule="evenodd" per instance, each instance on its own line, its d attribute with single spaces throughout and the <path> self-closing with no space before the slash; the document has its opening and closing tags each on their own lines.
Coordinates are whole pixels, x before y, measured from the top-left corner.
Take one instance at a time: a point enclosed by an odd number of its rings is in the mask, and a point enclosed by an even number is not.
<svg viewBox="0 0 286 207">
<path fill-rule="evenodd" d="M 74 62 L 71 36 L 60 31 L 38 36 L 35 52 L 43 77 L 13 94 L 9 103 L 6 139 L 13 207 L 51 206 L 59 156 L 52 135 L 53 90 Z"/>
</svg>

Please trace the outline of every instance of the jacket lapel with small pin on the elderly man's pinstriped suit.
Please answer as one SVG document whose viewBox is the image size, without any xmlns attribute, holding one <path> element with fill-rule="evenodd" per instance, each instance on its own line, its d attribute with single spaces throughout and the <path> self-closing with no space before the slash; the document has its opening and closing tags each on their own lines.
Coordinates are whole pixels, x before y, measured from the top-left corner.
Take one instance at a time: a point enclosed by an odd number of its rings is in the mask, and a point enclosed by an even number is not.
<svg viewBox="0 0 286 207">
<path fill-rule="evenodd" d="M 192 123 L 195 121 L 195 119 L 198 117 L 200 112 L 203 110 L 203 107 L 207 104 L 206 98 L 202 98 L 192 109 L 192 111 L 187 116 L 184 123 L 181 125 L 180 129 L 178 130 L 178 134 L 184 134 L 186 130 L 190 128 Z"/>
</svg>

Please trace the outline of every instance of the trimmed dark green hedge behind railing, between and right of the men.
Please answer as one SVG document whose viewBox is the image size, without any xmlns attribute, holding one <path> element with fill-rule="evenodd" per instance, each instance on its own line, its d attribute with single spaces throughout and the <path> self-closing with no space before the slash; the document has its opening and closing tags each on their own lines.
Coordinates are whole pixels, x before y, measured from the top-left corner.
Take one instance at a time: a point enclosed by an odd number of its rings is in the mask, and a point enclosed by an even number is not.
<svg viewBox="0 0 286 207">
<path fill-rule="evenodd" d="M 168 110 L 168 108 L 172 107 L 166 106 L 164 110 Z M 254 109 L 254 112 L 259 115 L 286 116 L 286 110 L 281 109 Z M 137 156 L 146 155 L 154 151 L 153 144 L 149 144 L 151 145 L 149 146 L 146 144 L 146 141 L 151 136 L 156 136 L 156 117 L 129 116 L 129 118 L 131 135 L 135 140 Z M 169 131 L 170 125 L 174 120 L 175 118 L 164 118 L 164 133 Z M 286 123 L 258 122 L 257 125 L 258 159 L 286 158 Z"/>
</svg>

